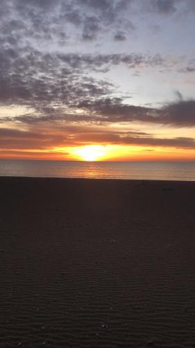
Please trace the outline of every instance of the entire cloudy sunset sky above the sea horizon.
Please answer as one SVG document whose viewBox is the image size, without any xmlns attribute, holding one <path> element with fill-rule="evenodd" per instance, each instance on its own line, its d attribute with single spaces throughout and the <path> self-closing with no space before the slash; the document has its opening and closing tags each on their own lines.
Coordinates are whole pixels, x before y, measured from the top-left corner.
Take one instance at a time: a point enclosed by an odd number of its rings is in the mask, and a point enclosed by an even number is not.
<svg viewBox="0 0 195 348">
<path fill-rule="evenodd" d="M 0 0 L 0 158 L 194 161 L 194 0 Z"/>
</svg>

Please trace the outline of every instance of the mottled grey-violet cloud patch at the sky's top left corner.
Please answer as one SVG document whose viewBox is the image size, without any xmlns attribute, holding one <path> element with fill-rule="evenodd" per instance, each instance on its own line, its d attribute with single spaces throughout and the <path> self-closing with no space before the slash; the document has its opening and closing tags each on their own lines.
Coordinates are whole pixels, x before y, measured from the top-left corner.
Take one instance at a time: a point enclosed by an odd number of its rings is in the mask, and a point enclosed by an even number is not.
<svg viewBox="0 0 195 348">
<path fill-rule="evenodd" d="M 93 40 L 99 33 L 111 31 L 116 26 L 124 26 L 123 18 L 131 1 L 85 1 L 85 0 L 1 0 L 6 14 L 1 13 L 1 29 L 7 31 L 18 41 L 51 40 L 59 41 L 60 32 L 66 33 L 67 23 L 74 25 L 69 35 L 76 35 L 79 29 L 80 38 Z M 18 26 L 17 21 L 21 26 Z M 14 26 L 15 22 L 15 26 Z M 120 22 L 120 24 L 119 24 Z M 128 22 L 128 19 L 126 19 Z M 129 21 L 130 22 L 130 21 Z M 1 30 L 2 33 L 2 30 Z"/>
</svg>

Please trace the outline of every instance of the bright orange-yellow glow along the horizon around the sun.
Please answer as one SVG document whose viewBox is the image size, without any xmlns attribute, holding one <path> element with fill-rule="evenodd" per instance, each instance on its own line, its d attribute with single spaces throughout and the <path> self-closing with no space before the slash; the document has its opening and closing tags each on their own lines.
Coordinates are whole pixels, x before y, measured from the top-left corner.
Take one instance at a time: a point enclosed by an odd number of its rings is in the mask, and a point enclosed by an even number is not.
<svg viewBox="0 0 195 348">
<path fill-rule="evenodd" d="M 94 144 L 49 149 L 0 150 L 0 159 L 40 159 L 52 161 L 194 161 L 195 150 Z"/>
</svg>

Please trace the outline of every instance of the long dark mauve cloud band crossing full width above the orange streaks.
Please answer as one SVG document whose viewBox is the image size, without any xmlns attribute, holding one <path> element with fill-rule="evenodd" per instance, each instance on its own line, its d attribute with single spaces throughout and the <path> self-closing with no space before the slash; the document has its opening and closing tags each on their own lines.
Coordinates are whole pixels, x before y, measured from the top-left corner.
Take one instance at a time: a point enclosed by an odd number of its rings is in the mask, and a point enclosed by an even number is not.
<svg viewBox="0 0 195 348">
<path fill-rule="evenodd" d="M 78 113 L 76 112 L 79 111 Z M 195 101 L 179 100 L 167 104 L 160 109 L 146 106 L 123 104 L 120 98 L 83 100 L 71 104 L 71 108 L 52 108 L 41 106 L 37 115 L 1 118 L 0 122 L 22 122 L 26 125 L 37 125 L 41 122 L 74 122 L 92 125 L 106 125 L 130 122 L 153 123 L 169 127 L 195 127 Z"/>
</svg>

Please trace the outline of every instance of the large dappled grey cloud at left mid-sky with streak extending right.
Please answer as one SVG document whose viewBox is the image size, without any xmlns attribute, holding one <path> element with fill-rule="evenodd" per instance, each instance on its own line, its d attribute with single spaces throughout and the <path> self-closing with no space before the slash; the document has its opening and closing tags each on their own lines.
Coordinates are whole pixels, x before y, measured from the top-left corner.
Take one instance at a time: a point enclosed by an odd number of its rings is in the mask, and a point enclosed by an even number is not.
<svg viewBox="0 0 195 348">
<path fill-rule="evenodd" d="M 165 62 L 160 56 L 142 54 L 44 54 L 31 46 L 3 47 L 0 102 L 40 108 L 45 103 L 60 107 L 99 99 L 110 95 L 112 85 L 90 77 L 89 72 L 105 72 L 120 64 L 134 69 L 163 66 Z"/>
</svg>

